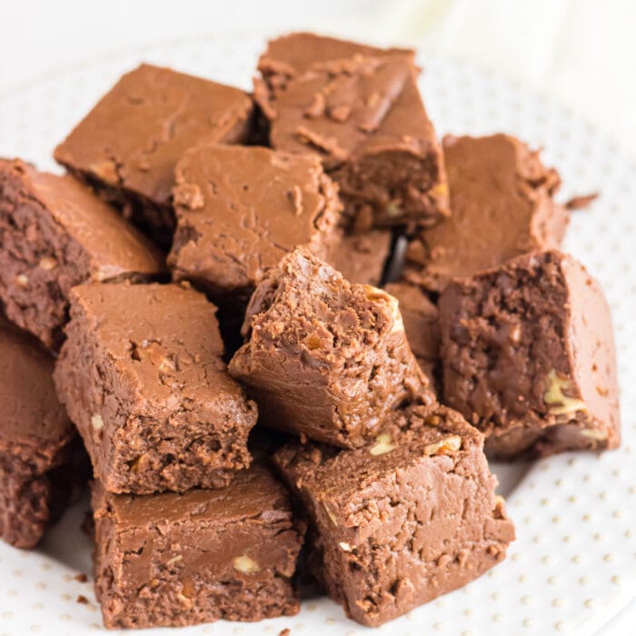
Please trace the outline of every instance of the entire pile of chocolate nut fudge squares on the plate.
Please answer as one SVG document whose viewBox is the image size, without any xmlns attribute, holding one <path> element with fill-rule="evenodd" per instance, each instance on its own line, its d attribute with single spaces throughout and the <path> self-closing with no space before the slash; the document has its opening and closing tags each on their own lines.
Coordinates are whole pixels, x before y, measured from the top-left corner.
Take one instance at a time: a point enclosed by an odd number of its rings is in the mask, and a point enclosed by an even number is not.
<svg viewBox="0 0 636 636">
<path fill-rule="evenodd" d="M 410 50 L 286 35 L 258 72 L 142 65 L 65 175 L 0 160 L 0 535 L 42 536 L 79 432 L 108 628 L 292 615 L 301 557 L 381 625 L 504 558 L 484 448 L 620 439 L 559 175 L 440 144 Z"/>
</svg>

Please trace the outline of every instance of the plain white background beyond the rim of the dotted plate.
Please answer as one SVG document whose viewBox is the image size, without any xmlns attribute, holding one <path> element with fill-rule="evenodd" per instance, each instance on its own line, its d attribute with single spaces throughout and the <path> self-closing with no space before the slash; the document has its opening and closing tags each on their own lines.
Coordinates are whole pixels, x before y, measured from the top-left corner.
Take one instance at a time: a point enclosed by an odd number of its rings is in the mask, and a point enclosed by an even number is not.
<svg viewBox="0 0 636 636">
<path fill-rule="evenodd" d="M 305 28 L 418 45 L 507 75 L 636 157 L 634 25 L 629 0 L 0 0 L 0 99 L 126 48 L 217 30 Z M 631 634 L 634 625 L 632 603 L 601 633 Z"/>
</svg>

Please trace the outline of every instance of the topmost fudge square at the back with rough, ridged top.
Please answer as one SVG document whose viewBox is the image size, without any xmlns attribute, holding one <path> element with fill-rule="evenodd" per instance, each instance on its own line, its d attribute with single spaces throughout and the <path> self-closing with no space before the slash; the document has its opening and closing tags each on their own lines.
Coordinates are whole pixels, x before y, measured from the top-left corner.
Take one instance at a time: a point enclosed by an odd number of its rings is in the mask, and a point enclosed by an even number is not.
<svg viewBox="0 0 636 636">
<path fill-rule="evenodd" d="M 261 56 L 254 98 L 277 150 L 313 153 L 358 230 L 428 225 L 448 214 L 443 156 L 413 52 L 297 33 Z"/>
</svg>

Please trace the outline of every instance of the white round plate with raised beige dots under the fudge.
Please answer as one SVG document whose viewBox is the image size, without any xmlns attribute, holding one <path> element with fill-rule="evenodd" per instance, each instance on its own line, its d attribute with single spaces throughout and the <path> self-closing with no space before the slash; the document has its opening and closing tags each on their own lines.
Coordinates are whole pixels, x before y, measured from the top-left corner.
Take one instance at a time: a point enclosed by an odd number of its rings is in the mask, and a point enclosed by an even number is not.
<svg viewBox="0 0 636 636">
<path fill-rule="evenodd" d="M 141 60 L 246 88 L 264 38 L 225 33 L 111 55 L 27 85 L 0 102 L 0 154 L 53 168 L 51 152 L 95 100 Z M 591 128 L 501 78 L 439 58 L 425 66 L 422 91 L 440 134 L 518 134 L 545 148 L 565 184 L 563 196 L 600 191 L 573 214 L 565 247 L 605 288 L 619 351 L 623 444 L 619 451 L 494 466 L 518 539 L 509 558 L 478 581 L 381 628 L 406 634 L 475 636 L 592 634 L 636 598 L 636 168 Z M 91 547 L 79 530 L 84 506 L 69 511 L 35 552 L 0 544 L 0 636 L 100 631 L 90 572 Z M 87 604 L 76 601 L 78 595 Z M 303 603 L 293 618 L 184 628 L 183 634 L 367 632 L 328 599 Z M 159 633 L 160 630 L 146 631 Z M 166 633 L 166 631 L 161 631 Z M 171 631 L 170 633 L 176 633 Z"/>
</svg>

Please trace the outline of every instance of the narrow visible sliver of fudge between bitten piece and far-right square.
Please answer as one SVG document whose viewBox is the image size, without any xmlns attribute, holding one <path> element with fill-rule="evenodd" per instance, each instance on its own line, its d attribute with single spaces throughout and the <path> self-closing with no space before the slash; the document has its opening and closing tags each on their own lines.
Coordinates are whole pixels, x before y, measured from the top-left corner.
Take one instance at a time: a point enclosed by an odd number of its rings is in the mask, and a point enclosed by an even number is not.
<svg viewBox="0 0 636 636">
<path fill-rule="evenodd" d="M 416 284 L 400 281 L 384 286 L 386 292 L 397 298 L 404 332 L 411 345 L 412 353 L 429 376 L 433 385 L 440 375 L 440 326 L 437 306 Z"/>
</svg>

